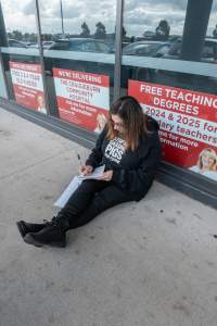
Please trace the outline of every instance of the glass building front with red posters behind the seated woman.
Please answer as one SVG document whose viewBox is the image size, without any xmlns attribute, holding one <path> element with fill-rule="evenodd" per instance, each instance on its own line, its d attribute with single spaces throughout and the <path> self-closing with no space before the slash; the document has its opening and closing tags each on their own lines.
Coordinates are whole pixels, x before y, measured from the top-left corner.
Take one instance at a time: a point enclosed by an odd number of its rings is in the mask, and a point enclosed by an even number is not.
<svg viewBox="0 0 217 326">
<path fill-rule="evenodd" d="M 217 0 L 1 0 L 0 104 L 91 147 L 130 95 L 158 179 L 217 206 Z"/>
</svg>

